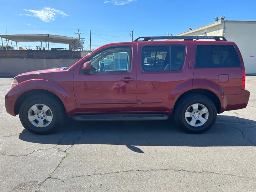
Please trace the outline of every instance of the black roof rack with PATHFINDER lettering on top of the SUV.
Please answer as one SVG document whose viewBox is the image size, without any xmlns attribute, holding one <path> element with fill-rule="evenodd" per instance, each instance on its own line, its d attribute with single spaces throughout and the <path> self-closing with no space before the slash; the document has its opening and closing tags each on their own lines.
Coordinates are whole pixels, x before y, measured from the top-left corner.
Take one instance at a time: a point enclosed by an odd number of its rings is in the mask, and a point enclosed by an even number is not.
<svg viewBox="0 0 256 192">
<path fill-rule="evenodd" d="M 139 40 L 142 39 L 142 40 Z M 149 41 L 154 39 L 184 39 L 184 41 L 193 41 L 194 39 L 215 39 L 215 41 L 226 41 L 222 36 L 155 36 L 155 37 L 138 37 L 134 41 Z"/>
</svg>

